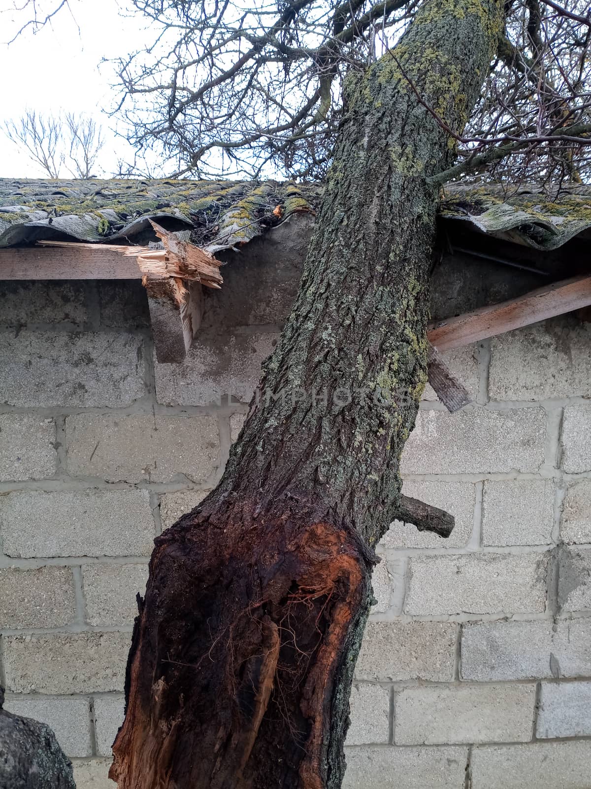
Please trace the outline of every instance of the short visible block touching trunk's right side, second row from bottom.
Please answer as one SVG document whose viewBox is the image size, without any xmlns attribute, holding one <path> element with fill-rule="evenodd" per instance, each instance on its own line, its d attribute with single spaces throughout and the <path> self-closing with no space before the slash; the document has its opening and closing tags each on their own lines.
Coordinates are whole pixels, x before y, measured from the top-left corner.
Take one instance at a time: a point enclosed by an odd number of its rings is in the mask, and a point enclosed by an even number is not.
<svg viewBox="0 0 591 789">
<path fill-rule="evenodd" d="M 351 688 L 351 727 L 347 745 L 388 742 L 390 735 L 390 690 L 381 685 L 359 685 Z"/>
</svg>

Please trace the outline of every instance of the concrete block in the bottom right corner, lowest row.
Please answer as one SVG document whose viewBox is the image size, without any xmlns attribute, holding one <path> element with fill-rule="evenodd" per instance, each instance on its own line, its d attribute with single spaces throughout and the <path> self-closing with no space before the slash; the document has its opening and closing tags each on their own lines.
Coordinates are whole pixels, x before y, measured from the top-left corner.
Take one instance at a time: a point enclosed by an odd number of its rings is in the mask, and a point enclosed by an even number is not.
<svg viewBox="0 0 591 789">
<path fill-rule="evenodd" d="M 472 752 L 472 789 L 589 789 L 591 740 L 481 746 Z"/>
</svg>

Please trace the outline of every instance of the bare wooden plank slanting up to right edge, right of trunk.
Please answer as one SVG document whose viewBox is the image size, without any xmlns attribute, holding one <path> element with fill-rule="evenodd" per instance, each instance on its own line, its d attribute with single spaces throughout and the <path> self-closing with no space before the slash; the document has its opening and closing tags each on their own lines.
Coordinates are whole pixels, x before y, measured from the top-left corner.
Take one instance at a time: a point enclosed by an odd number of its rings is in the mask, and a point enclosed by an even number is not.
<svg viewBox="0 0 591 789">
<path fill-rule="evenodd" d="M 459 348 L 589 305 L 591 276 L 563 279 L 510 301 L 433 321 L 429 323 L 427 338 L 440 351 Z"/>
</svg>

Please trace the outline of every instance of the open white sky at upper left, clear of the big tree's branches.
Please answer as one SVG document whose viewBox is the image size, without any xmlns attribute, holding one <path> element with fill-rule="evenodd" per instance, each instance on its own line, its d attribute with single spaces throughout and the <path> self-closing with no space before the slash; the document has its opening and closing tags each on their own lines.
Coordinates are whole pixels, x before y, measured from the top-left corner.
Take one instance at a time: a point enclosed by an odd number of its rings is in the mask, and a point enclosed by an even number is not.
<svg viewBox="0 0 591 789">
<path fill-rule="evenodd" d="M 0 0 L 0 9 L 12 5 Z M 0 129 L 5 121 L 19 118 L 23 110 L 85 112 L 102 124 L 106 144 L 99 155 L 96 174 L 109 177 L 117 168 L 117 159 L 132 159 L 125 140 L 110 130 L 114 118 L 102 109 L 113 104 L 110 66 L 101 59 L 125 55 L 139 48 L 147 36 L 145 21 L 139 14 L 121 17 L 117 0 L 71 0 L 72 14 L 64 8 L 51 25 L 32 33 L 28 28 L 9 46 L 4 43 L 6 17 L 20 17 L 10 12 L 0 15 Z M 4 17 L 4 18 L 2 18 Z M 23 21 L 25 21 L 23 17 Z M 80 32 L 78 31 L 80 28 Z M 71 177 L 64 168 L 64 178 Z M 39 165 L 28 159 L 0 130 L 0 178 L 46 178 Z"/>
</svg>

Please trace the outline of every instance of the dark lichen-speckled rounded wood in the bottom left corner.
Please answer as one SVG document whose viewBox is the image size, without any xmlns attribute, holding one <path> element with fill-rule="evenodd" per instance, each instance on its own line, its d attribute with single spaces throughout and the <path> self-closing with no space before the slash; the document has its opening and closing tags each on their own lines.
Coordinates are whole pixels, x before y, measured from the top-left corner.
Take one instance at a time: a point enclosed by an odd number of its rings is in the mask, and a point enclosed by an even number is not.
<svg viewBox="0 0 591 789">
<path fill-rule="evenodd" d="M 0 687 L 0 787 L 76 789 L 72 763 L 46 724 L 6 712 Z"/>
</svg>

